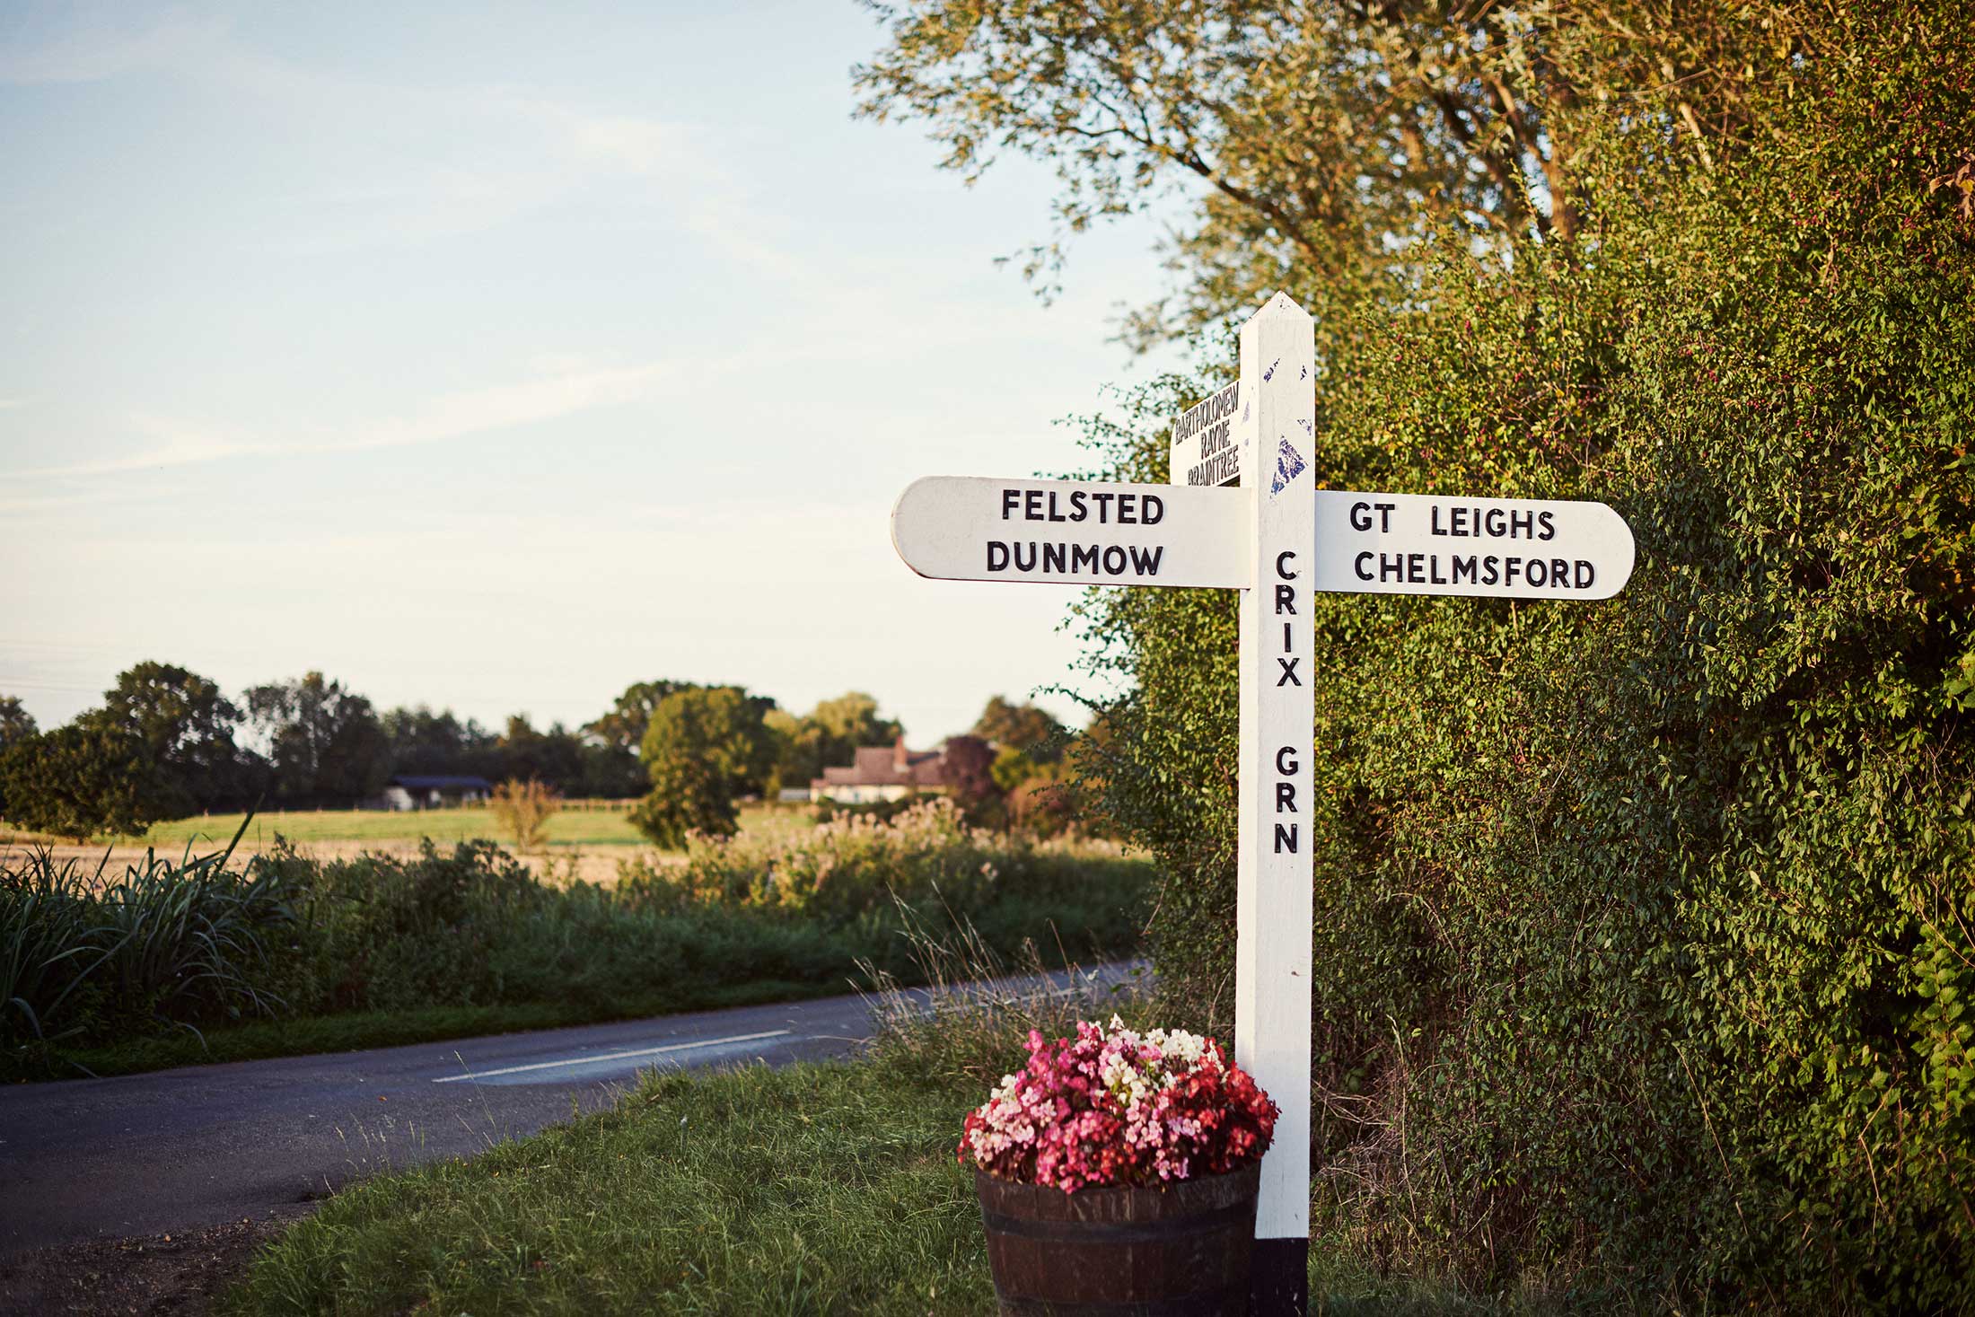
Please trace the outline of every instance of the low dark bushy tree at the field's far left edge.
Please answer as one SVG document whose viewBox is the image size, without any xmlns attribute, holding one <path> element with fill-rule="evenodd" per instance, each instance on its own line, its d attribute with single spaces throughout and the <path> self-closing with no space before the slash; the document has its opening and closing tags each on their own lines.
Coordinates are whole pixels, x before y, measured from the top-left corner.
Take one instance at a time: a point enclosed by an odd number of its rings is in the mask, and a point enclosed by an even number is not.
<svg viewBox="0 0 1975 1317">
<path fill-rule="evenodd" d="M 77 841 L 138 833 L 186 806 L 142 736 L 85 721 L 0 752 L 0 802 L 10 821 Z"/>
</svg>

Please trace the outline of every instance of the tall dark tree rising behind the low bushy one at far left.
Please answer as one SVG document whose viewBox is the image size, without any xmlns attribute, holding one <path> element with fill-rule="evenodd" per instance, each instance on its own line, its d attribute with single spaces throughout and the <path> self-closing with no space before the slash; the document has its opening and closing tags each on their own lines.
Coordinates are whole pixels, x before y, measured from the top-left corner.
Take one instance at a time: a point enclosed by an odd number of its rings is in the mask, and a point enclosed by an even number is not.
<svg viewBox="0 0 1975 1317">
<path fill-rule="evenodd" d="M 241 713 L 219 685 L 176 663 L 144 661 L 117 675 L 103 707 L 79 721 L 144 738 L 192 808 L 251 806 L 265 764 L 233 740 Z"/>
</svg>

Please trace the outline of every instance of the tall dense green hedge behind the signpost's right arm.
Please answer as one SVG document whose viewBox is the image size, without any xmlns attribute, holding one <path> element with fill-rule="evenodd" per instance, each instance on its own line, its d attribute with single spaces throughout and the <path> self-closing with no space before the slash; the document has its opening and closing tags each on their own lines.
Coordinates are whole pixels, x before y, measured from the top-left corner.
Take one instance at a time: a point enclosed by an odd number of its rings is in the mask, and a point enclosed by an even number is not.
<svg viewBox="0 0 1975 1317">
<path fill-rule="evenodd" d="M 1442 233 L 1327 312 L 1319 486 L 1639 541 L 1604 604 L 1317 604 L 1315 1193 L 1381 1264 L 1975 1307 L 1975 24 L 1817 24 L 1736 150 L 1614 103 L 1576 241 Z M 1232 602 L 1082 612 L 1161 983 L 1226 1029 Z"/>
</svg>

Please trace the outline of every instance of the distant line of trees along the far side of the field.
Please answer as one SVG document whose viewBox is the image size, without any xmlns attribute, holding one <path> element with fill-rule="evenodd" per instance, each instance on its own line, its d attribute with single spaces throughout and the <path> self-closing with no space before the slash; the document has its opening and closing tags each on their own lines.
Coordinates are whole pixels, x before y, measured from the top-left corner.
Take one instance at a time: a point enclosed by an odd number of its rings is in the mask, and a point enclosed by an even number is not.
<svg viewBox="0 0 1975 1317">
<path fill-rule="evenodd" d="M 974 731 L 1001 758 L 984 750 L 954 794 L 984 821 L 1007 821 L 1013 802 L 1035 796 L 1023 784 L 1055 780 L 1063 729 L 995 697 Z M 427 705 L 377 713 L 320 671 L 229 699 L 209 677 L 144 661 L 118 673 L 101 707 L 45 733 L 20 699 L 0 697 L 0 817 L 87 837 L 192 813 L 354 808 L 397 774 L 476 776 L 642 796 L 638 825 L 675 845 L 691 829 L 731 833 L 741 798 L 808 786 L 897 736 L 863 691 L 796 715 L 737 685 L 638 681 L 579 729 L 537 729 L 517 713 L 494 731 Z"/>
</svg>

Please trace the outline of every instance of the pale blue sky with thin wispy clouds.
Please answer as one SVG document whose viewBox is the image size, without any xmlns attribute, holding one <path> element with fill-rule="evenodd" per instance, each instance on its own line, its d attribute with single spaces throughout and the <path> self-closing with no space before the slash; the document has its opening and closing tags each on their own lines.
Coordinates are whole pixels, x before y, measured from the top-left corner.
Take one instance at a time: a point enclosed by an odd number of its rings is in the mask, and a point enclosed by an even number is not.
<svg viewBox="0 0 1975 1317">
<path fill-rule="evenodd" d="M 920 581 L 889 509 L 1078 468 L 1059 421 L 1173 365 L 1116 342 L 1157 217 L 1045 306 L 997 257 L 1051 174 L 853 120 L 881 43 L 851 0 L 0 6 L 0 695 L 51 727 L 158 659 L 581 725 L 672 677 L 930 744 L 1094 689 L 1072 590 Z"/>
</svg>

